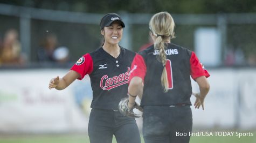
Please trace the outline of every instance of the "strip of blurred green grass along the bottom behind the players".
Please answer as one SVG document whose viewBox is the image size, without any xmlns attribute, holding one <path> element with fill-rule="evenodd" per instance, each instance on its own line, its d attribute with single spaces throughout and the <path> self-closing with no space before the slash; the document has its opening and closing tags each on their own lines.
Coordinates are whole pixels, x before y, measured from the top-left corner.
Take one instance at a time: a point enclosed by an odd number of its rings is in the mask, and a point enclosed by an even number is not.
<svg viewBox="0 0 256 143">
<path fill-rule="evenodd" d="M 100 137 L 99 137 L 100 138 Z M 143 138 L 142 143 L 144 143 Z M 89 143 L 87 134 L 35 134 L 35 135 L 0 135 L 0 143 Z M 256 132 L 253 137 L 191 137 L 190 143 L 255 143 Z M 113 143 L 116 143 L 113 137 Z M 132 143 L 132 142 L 131 142 Z"/>
</svg>

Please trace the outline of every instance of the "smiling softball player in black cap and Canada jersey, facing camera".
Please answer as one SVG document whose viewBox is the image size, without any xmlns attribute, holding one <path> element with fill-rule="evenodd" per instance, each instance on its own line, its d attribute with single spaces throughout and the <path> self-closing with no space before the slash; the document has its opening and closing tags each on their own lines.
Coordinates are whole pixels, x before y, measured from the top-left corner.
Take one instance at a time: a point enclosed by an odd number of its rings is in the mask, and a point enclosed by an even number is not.
<svg viewBox="0 0 256 143">
<path fill-rule="evenodd" d="M 119 101 L 127 96 L 130 65 L 135 52 L 119 46 L 123 27 L 116 13 L 106 14 L 100 22 L 103 46 L 82 56 L 63 78 L 53 78 L 49 88 L 64 89 L 75 79 L 86 74 L 91 79 L 93 100 L 89 117 L 88 134 L 91 143 L 141 142 L 134 118 L 123 116 L 118 111 Z M 132 138 L 131 138 L 132 137 Z"/>
</svg>

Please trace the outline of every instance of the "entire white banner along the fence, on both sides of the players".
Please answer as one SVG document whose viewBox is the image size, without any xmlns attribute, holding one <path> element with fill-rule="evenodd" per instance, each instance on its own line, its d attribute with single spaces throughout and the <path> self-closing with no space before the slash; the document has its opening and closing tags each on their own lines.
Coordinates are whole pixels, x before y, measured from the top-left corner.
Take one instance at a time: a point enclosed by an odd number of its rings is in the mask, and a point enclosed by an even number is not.
<svg viewBox="0 0 256 143">
<path fill-rule="evenodd" d="M 0 71 L 0 132 L 87 131 L 92 99 L 89 78 L 62 91 L 49 89 L 51 78 L 68 70 Z M 205 110 L 192 108 L 193 127 L 256 127 L 256 70 L 209 70 Z M 192 81 L 193 92 L 198 92 Z M 191 102 L 195 97 L 191 97 Z M 141 128 L 141 118 L 137 120 Z"/>
</svg>

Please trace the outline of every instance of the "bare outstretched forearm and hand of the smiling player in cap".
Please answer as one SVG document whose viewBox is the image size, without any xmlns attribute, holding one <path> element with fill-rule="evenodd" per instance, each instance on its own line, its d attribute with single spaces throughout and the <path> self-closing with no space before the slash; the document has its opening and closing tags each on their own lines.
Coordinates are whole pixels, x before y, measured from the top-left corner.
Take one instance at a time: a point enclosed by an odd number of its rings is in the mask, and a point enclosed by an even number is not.
<svg viewBox="0 0 256 143">
<path fill-rule="evenodd" d="M 80 76 L 78 72 L 70 70 L 63 78 L 52 78 L 50 80 L 49 89 L 56 88 L 57 90 L 62 90 L 68 87 L 75 79 Z"/>
</svg>

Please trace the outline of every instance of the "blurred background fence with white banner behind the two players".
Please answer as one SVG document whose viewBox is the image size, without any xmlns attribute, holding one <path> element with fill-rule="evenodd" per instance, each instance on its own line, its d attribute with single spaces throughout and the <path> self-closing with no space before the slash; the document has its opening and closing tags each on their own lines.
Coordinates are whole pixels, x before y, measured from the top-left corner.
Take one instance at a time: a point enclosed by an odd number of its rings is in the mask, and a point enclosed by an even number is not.
<svg viewBox="0 0 256 143">
<path fill-rule="evenodd" d="M 126 24 L 121 46 L 139 51 L 150 42 L 148 22 L 153 13 L 117 13 Z M 79 57 L 101 46 L 102 16 L 0 3 L 0 44 L 10 30 L 20 43 L 16 54 L 10 54 L 16 56 L 12 61 L 0 59 L 0 132 L 87 131 L 92 99 L 88 77 L 61 92 L 50 91 L 47 85 L 51 78 L 64 76 Z M 176 23 L 172 42 L 196 51 L 211 74 L 206 110 L 193 109 L 194 127 L 255 130 L 256 13 L 172 16 Z M 53 59 L 41 57 L 45 53 L 41 49 L 48 45 Z M 141 127 L 140 119 L 138 123 Z"/>
</svg>

